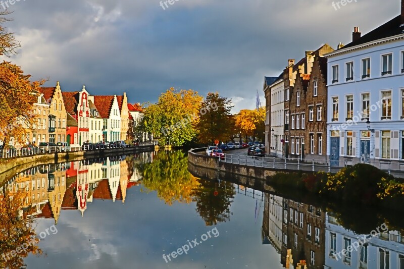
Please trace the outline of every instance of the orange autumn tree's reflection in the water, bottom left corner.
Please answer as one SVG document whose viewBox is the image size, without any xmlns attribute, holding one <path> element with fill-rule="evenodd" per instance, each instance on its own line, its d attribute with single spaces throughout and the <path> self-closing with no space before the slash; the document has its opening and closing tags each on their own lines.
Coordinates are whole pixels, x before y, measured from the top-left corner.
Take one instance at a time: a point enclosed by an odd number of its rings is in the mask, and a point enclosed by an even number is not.
<svg viewBox="0 0 404 269">
<path fill-rule="evenodd" d="M 37 242 L 39 239 L 33 229 L 32 218 L 27 215 L 30 212 L 25 210 L 19 213 L 26 193 L 17 192 L 12 197 L 9 194 L 0 194 L 0 257 L 1 268 L 21 268 L 24 258 L 29 253 L 40 255 Z M 21 251 L 21 249 L 24 249 Z M 18 251 L 18 253 L 17 253 Z"/>
</svg>

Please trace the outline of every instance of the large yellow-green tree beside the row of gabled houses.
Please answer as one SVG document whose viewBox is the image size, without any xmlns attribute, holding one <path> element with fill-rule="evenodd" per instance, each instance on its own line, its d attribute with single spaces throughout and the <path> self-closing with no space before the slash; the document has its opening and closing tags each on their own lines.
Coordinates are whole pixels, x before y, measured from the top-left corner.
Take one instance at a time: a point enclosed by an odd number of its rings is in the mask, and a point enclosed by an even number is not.
<svg viewBox="0 0 404 269">
<path fill-rule="evenodd" d="M 137 132 L 152 133 L 163 144 L 181 146 L 196 136 L 195 124 L 203 97 L 193 90 L 170 88 L 144 109 Z"/>
</svg>

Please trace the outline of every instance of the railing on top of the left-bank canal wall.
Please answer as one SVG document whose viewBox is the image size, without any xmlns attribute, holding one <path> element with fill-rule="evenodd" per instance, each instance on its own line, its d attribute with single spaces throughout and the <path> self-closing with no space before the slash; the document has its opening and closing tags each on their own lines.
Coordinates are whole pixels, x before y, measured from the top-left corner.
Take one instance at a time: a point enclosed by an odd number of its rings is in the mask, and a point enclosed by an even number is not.
<svg viewBox="0 0 404 269">
<path fill-rule="evenodd" d="M 158 145 L 158 141 L 145 141 L 139 142 L 138 145 L 128 146 L 127 148 L 136 148 L 139 146 L 151 146 L 151 145 Z M 107 145 L 102 149 L 109 148 Z M 116 147 L 122 148 L 122 147 Z M 51 146 L 51 147 L 32 147 L 32 148 L 2 148 L 0 149 L 0 158 L 15 158 L 15 157 L 23 157 L 23 156 L 31 156 L 31 155 L 38 155 L 38 154 L 49 154 L 49 153 L 58 153 L 58 152 L 67 152 L 67 151 L 87 151 L 87 150 L 99 150 L 93 146 L 74 146 L 70 147 L 70 149 L 65 149 L 63 146 Z"/>
</svg>

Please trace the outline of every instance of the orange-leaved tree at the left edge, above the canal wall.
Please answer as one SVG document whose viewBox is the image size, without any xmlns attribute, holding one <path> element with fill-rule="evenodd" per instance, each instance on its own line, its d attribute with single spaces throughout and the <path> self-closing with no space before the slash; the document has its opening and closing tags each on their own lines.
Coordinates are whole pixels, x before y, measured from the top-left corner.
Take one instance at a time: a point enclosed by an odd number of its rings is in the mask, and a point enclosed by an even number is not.
<svg viewBox="0 0 404 269">
<path fill-rule="evenodd" d="M 8 145 L 14 137 L 23 142 L 26 127 L 33 124 L 33 104 L 42 81 L 29 81 L 19 66 L 4 61 L 0 64 L 0 140 Z"/>
</svg>

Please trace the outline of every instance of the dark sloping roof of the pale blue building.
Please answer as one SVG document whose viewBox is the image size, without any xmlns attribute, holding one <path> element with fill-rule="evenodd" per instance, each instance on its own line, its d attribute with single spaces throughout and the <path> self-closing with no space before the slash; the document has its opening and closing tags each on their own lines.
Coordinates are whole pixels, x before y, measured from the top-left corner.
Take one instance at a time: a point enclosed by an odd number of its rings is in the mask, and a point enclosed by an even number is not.
<svg viewBox="0 0 404 269">
<path fill-rule="evenodd" d="M 353 47 L 361 44 L 365 44 L 368 42 L 372 42 L 375 40 L 403 34 L 404 25 L 401 26 L 401 15 L 391 19 L 390 21 L 386 22 L 385 24 L 377 27 L 376 29 L 370 31 L 369 33 L 365 34 L 361 38 L 356 41 L 352 41 L 345 46 L 341 47 L 340 49 L 345 49 L 347 47 Z M 338 49 L 338 50 L 340 50 Z"/>
</svg>

